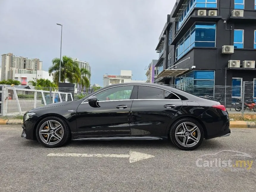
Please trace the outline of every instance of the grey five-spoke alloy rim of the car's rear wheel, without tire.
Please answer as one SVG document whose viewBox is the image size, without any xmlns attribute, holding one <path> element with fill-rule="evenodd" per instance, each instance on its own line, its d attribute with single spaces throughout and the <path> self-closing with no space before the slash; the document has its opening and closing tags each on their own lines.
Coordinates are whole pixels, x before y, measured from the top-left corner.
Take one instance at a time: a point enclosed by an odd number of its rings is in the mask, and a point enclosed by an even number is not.
<svg viewBox="0 0 256 192">
<path fill-rule="evenodd" d="M 175 130 L 175 138 L 177 142 L 184 147 L 195 146 L 200 138 L 200 129 L 191 122 L 183 122 L 179 124 Z"/>
</svg>

